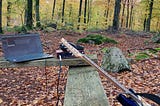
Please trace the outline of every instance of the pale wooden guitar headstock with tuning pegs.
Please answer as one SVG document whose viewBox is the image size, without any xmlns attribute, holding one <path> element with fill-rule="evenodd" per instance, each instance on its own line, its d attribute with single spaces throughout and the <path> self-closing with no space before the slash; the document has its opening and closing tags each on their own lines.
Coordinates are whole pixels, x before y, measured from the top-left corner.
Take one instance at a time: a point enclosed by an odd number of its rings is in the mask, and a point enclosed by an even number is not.
<svg viewBox="0 0 160 106">
<path fill-rule="evenodd" d="M 82 54 L 75 49 L 72 45 L 70 45 L 64 38 L 61 39 L 61 42 L 76 56 L 82 57 Z"/>
</svg>

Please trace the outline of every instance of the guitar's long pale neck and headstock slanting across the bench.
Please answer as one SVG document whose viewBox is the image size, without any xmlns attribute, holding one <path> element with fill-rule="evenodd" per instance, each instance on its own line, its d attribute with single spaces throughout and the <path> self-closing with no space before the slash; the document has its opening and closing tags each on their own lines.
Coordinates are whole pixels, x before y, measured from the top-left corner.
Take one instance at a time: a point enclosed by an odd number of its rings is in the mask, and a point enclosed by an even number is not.
<svg viewBox="0 0 160 106">
<path fill-rule="evenodd" d="M 94 63 L 90 58 L 88 58 L 85 54 L 80 53 L 77 49 L 75 49 L 72 45 L 70 45 L 64 38 L 61 39 L 61 42 L 75 55 L 76 57 L 82 58 L 86 62 L 88 62 L 91 66 L 95 67 L 102 75 L 108 78 L 116 87 L 120 88 L 125 94 L 129 95 L 136 104 L 130 106 L 151 106 L 144 100 L 142 97 L 135 95 L 133 92 L 125 88 L 122 84 L 120 84 L 115 78 L 109 75 L 104 69 Z"/>
</svg>

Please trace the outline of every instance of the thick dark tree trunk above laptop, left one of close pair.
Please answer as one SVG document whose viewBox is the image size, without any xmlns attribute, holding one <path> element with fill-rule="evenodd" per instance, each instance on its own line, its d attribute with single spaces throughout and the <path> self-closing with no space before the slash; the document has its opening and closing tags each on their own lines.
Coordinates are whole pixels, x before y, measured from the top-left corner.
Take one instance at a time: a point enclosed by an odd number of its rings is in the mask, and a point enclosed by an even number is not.
<svg viewBox="0 0 160 106">
<path fill-rule="evenodd" d="M 26 26 L 29 29 L 33 27 L 33 19 L 32 19 L 32 0 L 27 0 L 27 22 Z"/>
</svg>

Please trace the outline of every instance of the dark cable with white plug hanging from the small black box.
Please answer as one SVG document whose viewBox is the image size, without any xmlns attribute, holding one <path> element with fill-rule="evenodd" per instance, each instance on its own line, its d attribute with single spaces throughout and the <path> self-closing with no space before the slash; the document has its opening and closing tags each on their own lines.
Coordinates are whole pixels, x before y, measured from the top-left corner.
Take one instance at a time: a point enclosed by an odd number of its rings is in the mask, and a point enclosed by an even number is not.
<svg viewBox="0 0 160 106">
<path fill-rule="evenodd" d="M 56 103 L 56 106 L 58 106 L 58 103 L 59 103 L 59 81 L 60 81 L 60 74 L 62 72 L 62 58 L 61 58 L 61 55 L 59 55 L 59 73 L 58 73 L 58 81 L 57 81 L 57 103 Z"/>
</svg>

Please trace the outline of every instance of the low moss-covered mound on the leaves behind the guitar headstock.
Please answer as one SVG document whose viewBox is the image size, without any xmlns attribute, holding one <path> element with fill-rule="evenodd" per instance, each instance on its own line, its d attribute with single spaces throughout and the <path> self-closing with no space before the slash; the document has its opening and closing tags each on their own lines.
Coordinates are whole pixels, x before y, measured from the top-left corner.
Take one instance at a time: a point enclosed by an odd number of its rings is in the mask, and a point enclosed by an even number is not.
<svg viewBox="0 0 160 106">
<path fill-rule="evenodd" d="M 81 38 L 78 40 L 78 42 L 82 43 L 93 43 L 93 44 L 102 44 L 102 43 L 114 43 L 117 44 L 117 42 L 111 38 L 104 37 L 100 34 L 89 34 L 85 38 Z"/>
</svg>

